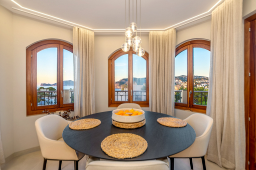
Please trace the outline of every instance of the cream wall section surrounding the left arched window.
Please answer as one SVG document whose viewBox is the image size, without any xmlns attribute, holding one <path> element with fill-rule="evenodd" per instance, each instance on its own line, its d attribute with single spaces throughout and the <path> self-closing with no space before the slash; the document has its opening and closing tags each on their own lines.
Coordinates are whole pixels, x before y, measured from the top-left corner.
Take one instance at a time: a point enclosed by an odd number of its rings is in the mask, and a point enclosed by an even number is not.
<svg viewBox="0 0 256 170">
<path fill-rule="evenodd" d="M 19 14 L 13 15 L 13 89 L 14 152 L 38 146 L 35 121 L 42 115 L 26 115 L 26 47 L 48 38 L 72 43 L 72 29 L 64 28 Z"/>
</svg>

